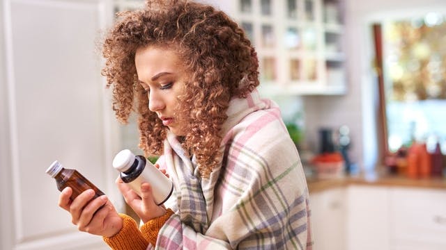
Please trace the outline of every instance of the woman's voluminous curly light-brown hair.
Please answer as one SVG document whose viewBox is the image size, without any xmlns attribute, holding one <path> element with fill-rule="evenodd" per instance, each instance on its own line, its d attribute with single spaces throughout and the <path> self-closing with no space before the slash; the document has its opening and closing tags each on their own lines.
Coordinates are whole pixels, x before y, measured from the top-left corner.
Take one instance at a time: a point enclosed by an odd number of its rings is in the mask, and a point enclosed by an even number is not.
<svg viewBox="0 0 446 250">
<path fill-rule="evenodd" d="M 220 129 L 232 97 L 245 98 L 259 85 L 259 61 L 244 31 L 224 12 L 202 3 L 148 0 L 142 10 L 118 13 L 107 33 L 102 54 L 107 88 L 113 85 L 117 119 L 128 122 L 138 114 L 139 147 L 160 155 L 167 126 L 148 110 L 148 96 L 138 83 L 134 56 L 141 47 L 175 48 L 190 81 L 178 97 L 178 110 L 187 124 L 183 146 L 197 158 L 201 176 L 220 164 Z"/>
</svg>

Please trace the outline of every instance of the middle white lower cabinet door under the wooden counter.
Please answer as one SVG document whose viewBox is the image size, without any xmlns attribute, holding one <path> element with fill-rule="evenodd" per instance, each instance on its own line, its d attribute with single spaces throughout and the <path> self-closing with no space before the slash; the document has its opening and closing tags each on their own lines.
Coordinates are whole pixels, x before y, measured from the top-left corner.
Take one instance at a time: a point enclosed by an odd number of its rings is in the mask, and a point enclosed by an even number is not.
<svg viewBox="0 0 446 250">
<path fill-rule="evenodd" d="M 388 188 L 351 185 L 347 199 L 347 249 L 389 249 Z"/>
</svg>

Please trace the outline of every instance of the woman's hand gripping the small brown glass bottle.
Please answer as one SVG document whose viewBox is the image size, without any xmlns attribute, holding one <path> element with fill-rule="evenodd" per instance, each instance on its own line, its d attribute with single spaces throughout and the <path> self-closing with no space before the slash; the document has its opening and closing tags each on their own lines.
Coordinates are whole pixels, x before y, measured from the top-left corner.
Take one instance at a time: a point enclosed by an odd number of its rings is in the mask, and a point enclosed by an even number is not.
<svg viewBox="0 0 446 250">
<path fill-rule="evenodd" d="M 71 194 L 71 188 L 63 189 L 59 206 L 71 214 L 71 222 L 79 231 L 110 238 L 121 230 L 123 219 L 105 195 L 91 200 L 95 192 L 90 189 L 70 201 Z"/>
</svg>

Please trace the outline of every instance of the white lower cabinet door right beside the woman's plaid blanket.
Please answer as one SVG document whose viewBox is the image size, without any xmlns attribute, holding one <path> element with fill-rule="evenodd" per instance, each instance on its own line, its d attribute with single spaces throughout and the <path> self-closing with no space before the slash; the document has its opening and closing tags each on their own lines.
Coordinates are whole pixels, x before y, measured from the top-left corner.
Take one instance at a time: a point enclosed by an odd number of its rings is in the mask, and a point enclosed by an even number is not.
<svg viewBox="0 0 446 250">
<path fill-rule="evenodd" d="M 345 189 L 310 194 L 315 250 L 346 249 Z"/>
</svg>

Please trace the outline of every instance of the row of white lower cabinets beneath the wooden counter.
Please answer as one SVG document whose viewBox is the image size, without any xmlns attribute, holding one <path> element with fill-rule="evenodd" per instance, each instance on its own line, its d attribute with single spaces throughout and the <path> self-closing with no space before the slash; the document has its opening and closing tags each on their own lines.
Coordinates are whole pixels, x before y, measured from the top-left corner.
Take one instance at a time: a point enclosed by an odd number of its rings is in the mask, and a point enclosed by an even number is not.
<svg viewBox="0 0 446 250">
<path fill-rule="evenodd" d="M 352 184 L 310 192 L 314 249 L 446 249 L 446 190 Z"/>
</svg>

